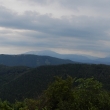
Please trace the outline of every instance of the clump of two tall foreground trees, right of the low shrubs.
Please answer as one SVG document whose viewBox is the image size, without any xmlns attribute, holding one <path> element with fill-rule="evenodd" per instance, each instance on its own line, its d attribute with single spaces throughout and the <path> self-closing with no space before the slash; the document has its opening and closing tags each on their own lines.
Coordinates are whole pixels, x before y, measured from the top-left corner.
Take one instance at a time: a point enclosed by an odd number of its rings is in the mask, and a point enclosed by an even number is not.
<svg viewBox="0 0 110 110">
<path fill-rule="evenodd" d="M 77 86 L 75 86 L 78 83 Z M 47 110 L 109 110 L 110 96 L 93 78 L 57 78 L 45 91 Z"/>
</svg>

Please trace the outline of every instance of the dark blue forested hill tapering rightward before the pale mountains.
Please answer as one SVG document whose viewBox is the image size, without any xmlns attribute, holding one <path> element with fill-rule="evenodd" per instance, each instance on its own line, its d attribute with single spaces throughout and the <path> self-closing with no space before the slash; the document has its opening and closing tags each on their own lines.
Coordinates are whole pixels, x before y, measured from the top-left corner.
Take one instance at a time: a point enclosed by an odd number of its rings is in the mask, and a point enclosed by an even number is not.
<svg viewBox="0 0 110 110">
<path fill-rule="evenodd" d="M 41 65 L 60 65 L 67 63 L 75 63 L 70 60 L 64 60 L 49 56 L 38 55 L 0 55 L 0 64 L 7 66 L 28 66 L 38 67 Z"/>
</svg>

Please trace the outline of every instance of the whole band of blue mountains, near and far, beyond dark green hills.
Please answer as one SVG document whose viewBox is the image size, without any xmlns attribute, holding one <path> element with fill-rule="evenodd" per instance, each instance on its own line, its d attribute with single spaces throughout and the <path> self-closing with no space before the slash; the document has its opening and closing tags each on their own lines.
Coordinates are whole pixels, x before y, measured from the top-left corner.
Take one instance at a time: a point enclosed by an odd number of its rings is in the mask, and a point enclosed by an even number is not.
<svg viewBox="0 0 110 110">
<path fill-rule="evenodd" d="M 20 55 L 0 55 L 0 64 L 7 66 L 38 67 L 42 65 L 60 65 L 68 63 L 107 64 L 110 57 L 97 58 L 76 54 L 58 54 L 53 51 L 31 51 Z"/>
</svg>

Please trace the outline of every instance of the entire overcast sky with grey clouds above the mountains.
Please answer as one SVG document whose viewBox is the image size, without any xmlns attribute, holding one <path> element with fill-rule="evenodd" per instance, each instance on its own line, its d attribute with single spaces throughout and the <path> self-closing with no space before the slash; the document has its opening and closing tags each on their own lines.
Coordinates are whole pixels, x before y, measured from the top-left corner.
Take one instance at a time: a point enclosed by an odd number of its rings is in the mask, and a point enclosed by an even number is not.
<svg viewBox="0 0 110 110">
<path fill-rule="evenodd" d="M 0 0 L 0 54 L 39 50 L 110 55 L 110 0 Z"/>
</svg>

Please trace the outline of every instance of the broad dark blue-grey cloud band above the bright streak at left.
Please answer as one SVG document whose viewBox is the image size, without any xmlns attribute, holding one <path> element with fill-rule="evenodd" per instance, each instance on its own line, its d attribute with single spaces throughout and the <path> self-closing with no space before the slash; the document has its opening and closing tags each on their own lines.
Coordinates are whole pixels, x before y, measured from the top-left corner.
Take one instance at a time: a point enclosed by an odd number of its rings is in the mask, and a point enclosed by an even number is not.
<svg viewBox="0 0 110 110">
<path fill-rule="evenodd" d="M 53 18 L 37 12 L 25 12 L 23 15 L 13 13 L 4 7 L 0 10 L 0 26 L 15 29 L 34 30 L 46 34 L 67 37 L 97 39 L 107 36 L 110 20 L 87 16 L 71 16 L 69 19 Z"/>
</svg>

